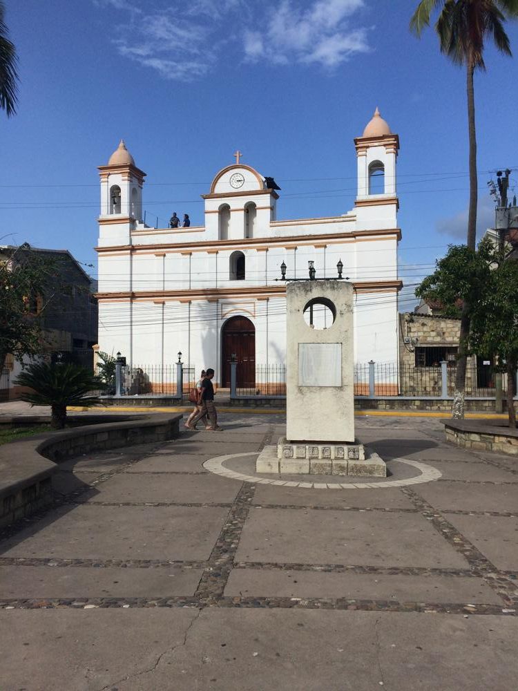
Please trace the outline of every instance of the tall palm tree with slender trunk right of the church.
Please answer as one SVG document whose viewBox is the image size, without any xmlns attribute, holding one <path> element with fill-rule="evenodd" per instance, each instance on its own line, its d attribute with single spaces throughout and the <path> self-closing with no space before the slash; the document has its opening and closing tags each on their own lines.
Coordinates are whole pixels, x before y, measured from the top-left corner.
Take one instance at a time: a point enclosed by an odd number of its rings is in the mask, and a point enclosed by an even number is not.
<svg viewBox="0 0 518 691">
<path fill-rule="evenodd" d="M 456 64 L 466 65 L 466 92 L 468 95 L 468 133 L 470 143 L 470 205 L 466 244 L 475 249 L 477 233 L 477 135 L 475 131 L 473 75 L 477 68 L 485 70 L 484 43 L 493 39 L 498 50 L 511 55 L 509 37 L 503 24 L 506 19 L 518 17 L 518 0 L 421 0 L 410 20 L 410 30 L 417 36 L 430 25 L 434 10 L 439 11 L 435 30 L 439 36 L 441 53 Z M 455 377 L 452 417 L 464 417 L 466 389 L 467 343 L 470 334 L 470 305 L 463 305 L 459 359 Z"/>
</svg>

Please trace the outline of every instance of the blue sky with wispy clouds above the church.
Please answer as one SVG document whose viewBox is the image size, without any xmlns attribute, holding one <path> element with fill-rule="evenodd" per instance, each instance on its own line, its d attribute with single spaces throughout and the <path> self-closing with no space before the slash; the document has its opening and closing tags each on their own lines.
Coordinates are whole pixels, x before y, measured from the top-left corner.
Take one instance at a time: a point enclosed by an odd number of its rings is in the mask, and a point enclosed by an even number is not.
<svg viewBox="0 0 518 691">
<path fill-rule="evenodd" d="M 21 86 L 18 114 L 0 113 L 0 242 L 95 264 L 97 166 L 121 137 L 162 226 L 173 210 L 202 223 L 200 194 L 236 149 L 282 187 L 279 218 L 343 214 L 353 138 L 379 106 L 401 140 L 411 307 L 412 285 L 465 238 L 468 205 L 465 73 L 433 30 L 410 35 L 416 2 L 7 0 Z M 518 24 L 507 30 L 518 54 Z M 518 169 L 517 64 L 488 46 L 486 65 L 475 84 L 481 228 L 490 171 Z"/>
</svg>

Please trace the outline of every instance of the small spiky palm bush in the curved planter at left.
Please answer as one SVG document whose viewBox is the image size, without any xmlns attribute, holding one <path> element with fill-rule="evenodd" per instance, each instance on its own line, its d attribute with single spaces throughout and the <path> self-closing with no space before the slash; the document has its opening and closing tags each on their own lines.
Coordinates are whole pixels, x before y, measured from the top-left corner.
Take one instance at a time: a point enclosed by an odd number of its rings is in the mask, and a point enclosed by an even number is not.
<svg viewBox="0 0 518 691">
<path fill-rule="evenodd" d="M 27 386 L 30 392 L 23 392 L 22 401 L 32 406 L 50 406 L 52 427 L 62 429 L 66 422 L 66 406 L 94 406 L 99 398 L 89 395 L 105 384 L 86 367 L 74 363 L 50 365 L 46 362 L 29 365 L 15 381 Z"/>
</svg>

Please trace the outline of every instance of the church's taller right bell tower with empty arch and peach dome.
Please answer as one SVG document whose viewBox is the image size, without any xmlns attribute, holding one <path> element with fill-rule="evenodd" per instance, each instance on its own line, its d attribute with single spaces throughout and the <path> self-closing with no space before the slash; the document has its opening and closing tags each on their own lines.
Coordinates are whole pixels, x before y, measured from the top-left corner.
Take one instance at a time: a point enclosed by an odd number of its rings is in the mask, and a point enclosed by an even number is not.
<svg viewBox="0 0 518 691">
<path fill-rule="evenodd" d="M 392 134 L 376 108 L 363 135 L 354 144 L 358 157 L 358 194 L 354 203 L 358 229 L 396 227 L 398 135 Z"/>
</svg>

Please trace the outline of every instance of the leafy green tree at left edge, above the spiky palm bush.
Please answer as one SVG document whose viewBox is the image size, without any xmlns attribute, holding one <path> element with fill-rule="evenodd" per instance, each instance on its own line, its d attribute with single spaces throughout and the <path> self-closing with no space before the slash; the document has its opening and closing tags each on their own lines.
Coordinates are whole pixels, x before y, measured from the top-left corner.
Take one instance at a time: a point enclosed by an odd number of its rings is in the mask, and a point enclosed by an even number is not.
<svg viewBox="0 0 518 691">
<path fill-rule="evenodd" d="M 55 262 L 29 245 L 0 261 L 0 371 L 10 353 L 21 360 L 41 352 L 41 325 L 32 305 L 54 273 Z"/>
</svg>

